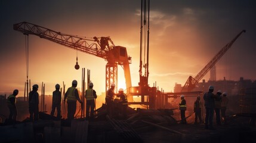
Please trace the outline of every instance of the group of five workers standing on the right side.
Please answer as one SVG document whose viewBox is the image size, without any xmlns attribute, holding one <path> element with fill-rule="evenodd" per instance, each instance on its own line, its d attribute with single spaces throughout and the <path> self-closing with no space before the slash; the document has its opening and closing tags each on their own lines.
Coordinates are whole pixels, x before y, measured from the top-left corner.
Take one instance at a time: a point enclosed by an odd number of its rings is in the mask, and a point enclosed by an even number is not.
<svg viewBox="0 0 256 143">
<path fill-rule="evenodd" d="M 227 98 L 226 92 L 217 91 L 216 94 L 213 94 L 214 86 L 209 86 L 208 92 L 205 92 L 203 95 L 203 100 L 205 102 L 205 129 L 214 129 L 213 127 L 213 117 L 214 111 L 216 116 L 217 125 L 221 125 L 221 117 L 223 119 L 223 123 L 227 124 L 226 120 L 226 109 L 229 99 Z M 186 124 L 186 116 L 185 111 L 187 110 L 186 100 L 184 99 L 184 95 L 181 95 L 180 102 L 180 115 L 181 115 L 181 124 Z M 202 117 L 202 103 L 201 97 L 196 97 L 196 101 L 194 102 L 194 113 L 195 113 L 195 124 L 198 124 L 198 119 L 200 123 L 203 123 Z M 220 115 L 221 113 L 221 115 Z"/>
</svg>

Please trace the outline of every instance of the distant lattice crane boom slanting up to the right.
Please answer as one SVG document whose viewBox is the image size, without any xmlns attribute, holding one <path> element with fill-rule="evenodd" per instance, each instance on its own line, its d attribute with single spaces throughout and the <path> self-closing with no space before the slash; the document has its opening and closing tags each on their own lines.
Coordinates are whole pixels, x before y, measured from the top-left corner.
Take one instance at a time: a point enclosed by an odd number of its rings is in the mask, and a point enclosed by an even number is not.
<svg viewBox="0 0 256 143">
<path fill-rule="evenodd" d="M 196 75 L 195 78 L 192 76 L 189 76 L 189 79 L 187 79 L 187 82 L 181 89 L 181 92 L 189 92 L 192 91 L 196 84 L 205 76 L 205 74 L 214 67 L 214 65 L 217 63 L 218 60 L 227 52 L 227 50 L 233 45 L 233 43 L 236 41 L 236 39 L 239 38 L 239 36 L 243 33 L 246 32 L 245 30 L 242 30 L 232 41 L 227 43 L 213 58 L 211 61 L 209 61 L 208 64 L 206 64 L 205 67 Z"/>
</svg>

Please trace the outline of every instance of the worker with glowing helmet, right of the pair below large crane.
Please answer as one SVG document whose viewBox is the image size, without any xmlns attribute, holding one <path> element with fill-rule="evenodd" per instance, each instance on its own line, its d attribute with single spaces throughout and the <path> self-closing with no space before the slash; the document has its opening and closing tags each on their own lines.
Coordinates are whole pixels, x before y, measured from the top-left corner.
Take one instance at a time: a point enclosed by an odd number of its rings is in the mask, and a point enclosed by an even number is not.
<svg viewBox="0 0 256 143">
<path fill-rule="evenodd" d="M 128 101 L 127 101 L 127 95 L 124 93 L 124 89 L 120 88 L 118 90 L 118 94 L 116 97 L 120 98 L 120 102 L 118 102 L 119 107 L 121 107 L 121 114 L 124 118 L 127 117 L 127 107 L 128 107 Z"/>
</svg>

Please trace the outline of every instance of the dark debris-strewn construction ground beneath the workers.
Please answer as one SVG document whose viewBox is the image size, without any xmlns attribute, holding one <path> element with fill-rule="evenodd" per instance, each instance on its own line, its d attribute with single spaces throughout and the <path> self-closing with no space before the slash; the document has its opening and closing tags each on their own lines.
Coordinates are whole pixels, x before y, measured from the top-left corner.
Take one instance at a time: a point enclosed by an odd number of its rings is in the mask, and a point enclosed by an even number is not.
<svg viewBox="0 0 256 143">
<path fill-rule="evenodd" d="M 39 114 L 36 122 L 24 120 L 0 126 L 0 142 L 256 142 L 253 117 L 233 115 L 227 125 L 181 125 L 159 110 L 141 110 L 128 119 L 101 116 L 94 120 L 53 120 Z"/>
</svg>

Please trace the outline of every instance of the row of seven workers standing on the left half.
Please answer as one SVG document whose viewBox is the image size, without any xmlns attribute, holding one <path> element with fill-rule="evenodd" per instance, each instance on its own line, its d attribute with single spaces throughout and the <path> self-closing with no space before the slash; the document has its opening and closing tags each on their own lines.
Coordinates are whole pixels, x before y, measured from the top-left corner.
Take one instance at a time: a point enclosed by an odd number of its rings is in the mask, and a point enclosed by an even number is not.
<svg viewBox="0 0 256 143">
<path fill-rule="evenodd" d="M 83 102 L 79 98 L 78 89 L 76 86 L 78 82 L 76 80 L 72 81 L 72 86 L 67 89 L 64 95 L 64 102 L 67 100 L 67 119 L 74 119 L 76 113 L 76 101 L 81 104 L 83 107 Z M 89 83 L 89 88 L 85 91 L 85 99 L 86 99 L 86 119 L 94 118 L 94 108 L 95 108 L 95 99 L 97 98 L 97 94 L 93 88 L 93 83 Z M 112 116 L 113 107 L 115 107 L 114 97 L 119 98 L 118 104 L 121 105 L 120 113 L 126 117 L 126 110 L 128 107 L 127 95 L 124 94 L 124 89 L 120 88 L 118 94 L 114 92 L 115 84 L 112 83 L 111 88 L 106 93 L 106 105 L 107 105 L 107 113 L 109 116 Z M 29 114 L 30 121 L 38 120 L 39 114 L 39 94 L 38 94 L 38 85 L 32 86 L 32 91 L 29 92 Z M 11 94 L 7 99 L 7 105 L 10 110 L 9 119 L 16 121 L 17 119 L 17 108 L 16 108 L 16 95 L 18 95 L 18 90 L 15 89 L 13 94 Z M 54 116 L 55 109 L 57 109 L 57 119 L 61 119 L 61 92 L 60 85 L 55 85 L 55 91 L 53 91 L 53 102 L 51 109 L 51 116 Z"/>
</svg>

